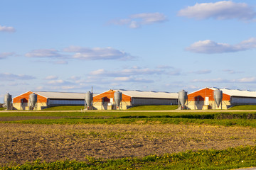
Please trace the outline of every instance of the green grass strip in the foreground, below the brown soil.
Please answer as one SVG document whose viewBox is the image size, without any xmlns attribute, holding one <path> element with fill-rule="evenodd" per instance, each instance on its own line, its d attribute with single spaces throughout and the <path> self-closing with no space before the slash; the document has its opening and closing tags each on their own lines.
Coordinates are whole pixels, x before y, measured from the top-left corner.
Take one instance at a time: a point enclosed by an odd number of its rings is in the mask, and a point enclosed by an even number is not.
<svg viewBox="0 0 256 170">
<path fill-rule="evenodd" d="M 238 169 L 256 166 L 256 147 L 235 147 L 224 150 L 199 150 L 174 154 L 150 155 L 142 158 L 95 159 L 85 161 L 65 160 L 35 162 L 17 166 L 2 166 L 1 169 Z"/>
</svg>

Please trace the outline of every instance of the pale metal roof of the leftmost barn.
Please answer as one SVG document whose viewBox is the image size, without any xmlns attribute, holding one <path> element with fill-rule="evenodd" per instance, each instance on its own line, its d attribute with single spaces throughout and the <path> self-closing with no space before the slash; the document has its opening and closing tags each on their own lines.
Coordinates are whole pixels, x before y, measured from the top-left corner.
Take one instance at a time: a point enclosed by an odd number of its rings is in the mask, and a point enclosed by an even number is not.
<svg viewBox="0 0 256 170">
<path fill-rule="evenodd" d="M 51 92 L 51 91 L 31 91 L 31 92 L 46 98 L 85 100 L 85 93 Z"/>
</svg>

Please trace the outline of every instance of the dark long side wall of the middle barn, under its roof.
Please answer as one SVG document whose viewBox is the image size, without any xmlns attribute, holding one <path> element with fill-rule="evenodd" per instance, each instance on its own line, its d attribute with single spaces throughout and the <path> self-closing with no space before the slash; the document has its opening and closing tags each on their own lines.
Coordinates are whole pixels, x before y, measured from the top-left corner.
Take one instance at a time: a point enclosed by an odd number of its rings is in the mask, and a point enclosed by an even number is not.
<svg viewBox="0 0 256 170">
<path fill-rule="evenodd" d="M 132 98 L 132 105 L 177 105 L 178 99 Z"/>
</svg>

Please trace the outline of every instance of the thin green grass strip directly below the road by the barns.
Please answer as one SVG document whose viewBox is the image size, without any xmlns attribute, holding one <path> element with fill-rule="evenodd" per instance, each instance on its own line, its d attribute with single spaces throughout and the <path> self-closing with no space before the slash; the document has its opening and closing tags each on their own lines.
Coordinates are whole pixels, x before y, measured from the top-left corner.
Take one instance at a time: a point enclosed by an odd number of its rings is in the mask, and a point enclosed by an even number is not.
<svg viewBox="0 0 256 170">
<path fill-rule="evenodd" d="M 129 111 L 100 111 L 100 112 L 0 112 L 0 117 L 17 116 L 62 116 L 62 117 L 92 117 L 92 118 L 256 118 L 255 112 L 129 112 Z"/>
</svg>

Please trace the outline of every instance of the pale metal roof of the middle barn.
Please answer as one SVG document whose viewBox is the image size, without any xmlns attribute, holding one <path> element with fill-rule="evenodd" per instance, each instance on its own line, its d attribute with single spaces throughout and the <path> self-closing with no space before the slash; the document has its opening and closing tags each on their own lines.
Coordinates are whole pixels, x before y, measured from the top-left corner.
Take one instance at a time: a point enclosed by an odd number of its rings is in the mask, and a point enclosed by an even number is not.
<svg viewBox="0 0 256 170">
<path fill-rule="evenodd" d="M 160 91 L 139 91 L 139 90 L 114 90 L 133 98 L 178 98 L 178 93 L 160 92 Z"/>
</svg>

